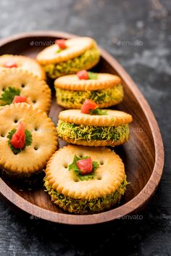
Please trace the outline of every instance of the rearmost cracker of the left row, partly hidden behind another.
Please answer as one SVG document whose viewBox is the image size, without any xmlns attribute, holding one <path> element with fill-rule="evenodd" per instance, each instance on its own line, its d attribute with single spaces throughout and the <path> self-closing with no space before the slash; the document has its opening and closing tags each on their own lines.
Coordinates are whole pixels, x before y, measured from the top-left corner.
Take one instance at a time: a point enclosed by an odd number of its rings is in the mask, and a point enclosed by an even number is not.
<svg viewBox="0 0 171 256">
<path fill-rule="evenodd" d="M 14 60 L 14 62 L 16 62 L 18 66 L 17 68 L 21 68 L 22 70 L 28 70 L 28 72 L 33 73 L 33 75 L 37 75 L 38 78 L 42 80 L 46 79 L 45 72 L 41 67 L 41 65 L 38 64 L 36 59 L 32 59 L 32 58 L 21 56 L 21 55 L 12 55 L 12 54 L 1 55 L 0 71 L 9 69 L 7 67 L 4 67 L 5 62 L 8 62 L 9 60 Z"/>
</svg>

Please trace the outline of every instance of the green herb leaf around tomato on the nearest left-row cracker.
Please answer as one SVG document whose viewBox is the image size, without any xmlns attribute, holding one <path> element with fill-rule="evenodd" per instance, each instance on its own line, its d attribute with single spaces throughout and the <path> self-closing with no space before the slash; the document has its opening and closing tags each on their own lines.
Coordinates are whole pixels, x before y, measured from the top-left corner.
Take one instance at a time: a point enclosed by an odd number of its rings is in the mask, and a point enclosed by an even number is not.
<svg viewBox="0 0 171 256">
<path fill-rule="evenodd" d="M 11 144 L 11 139 L 12 139 L 12 135 L 16 132 L 16 129 L 12 129 L 12 131 L 9 131 L 7 138 L 8 140 L 8 144 L 10 146 L 10 149 L 12 149 L 12 152 L 14 154 L 19 154 L 21 151 L 25 150 L 26 146 L 30 146 L 32 144 L 32 134 L 30 133 L 30 131 L 25 130 L 25 146 L 22 149 L 15 149 L 14 146 L 12 146 Z"/>
</svg>

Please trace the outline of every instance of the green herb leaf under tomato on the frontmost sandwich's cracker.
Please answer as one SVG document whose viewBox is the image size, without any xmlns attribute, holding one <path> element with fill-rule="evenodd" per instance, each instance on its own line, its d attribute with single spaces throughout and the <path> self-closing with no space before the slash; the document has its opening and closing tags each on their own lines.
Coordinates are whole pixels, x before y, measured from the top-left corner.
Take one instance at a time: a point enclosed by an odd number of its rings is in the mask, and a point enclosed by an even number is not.
<svg viewBox="0 0 171 256">
<path fill-rule="evenodd" d="M 75 175 L 80 179 L 80 181 L 88 181 L 88 179 L 94 178 L 96 176 L 95 170 L 99 167 L 99 162 L 93 161 L 92 162 L 93 170 L 91 171 L 91 173 L 82 175 L 81 170 L 78 169 L 77 162 L 79 160 L 83 160 L 87 158 L 89 157 L 78 157 L 75 155 L 73 162 L 68 167 L 69 170 L 73 170 L 75 172 Z"/>
</svg>

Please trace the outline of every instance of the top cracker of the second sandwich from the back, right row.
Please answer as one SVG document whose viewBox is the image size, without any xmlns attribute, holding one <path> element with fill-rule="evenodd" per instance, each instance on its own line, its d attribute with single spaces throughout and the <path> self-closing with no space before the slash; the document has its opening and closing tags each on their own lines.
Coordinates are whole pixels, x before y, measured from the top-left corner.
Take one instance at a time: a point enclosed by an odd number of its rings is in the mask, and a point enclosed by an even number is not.
<svg viewBox="0 0 171 256">
<path fill-rule="evenodd" d="M 121 83 L 117 75 L 107 73 L 97 73 L 97 79 L 80 80 L 78 75 L 64 75 L 54 81 L 56 88 L 74 91 L 101 90 Z"/>
</svg>

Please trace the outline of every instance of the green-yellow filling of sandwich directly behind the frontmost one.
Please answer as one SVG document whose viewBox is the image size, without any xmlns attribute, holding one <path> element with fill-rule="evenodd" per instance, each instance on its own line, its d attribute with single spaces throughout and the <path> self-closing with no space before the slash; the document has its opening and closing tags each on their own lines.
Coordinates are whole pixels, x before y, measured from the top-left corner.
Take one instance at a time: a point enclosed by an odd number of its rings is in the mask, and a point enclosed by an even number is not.
<svg viewBox="0 0 171 256">
<path fill-rule="evenodd" d="M 117 126 L 92 126 L 76 125 L 59 120 L 57 127 L 58 136 L 68 137 L 74 140 L 102 140 L 102 141 L 122 141 L 129 139 L 129 125 Z"/>
</svg>

